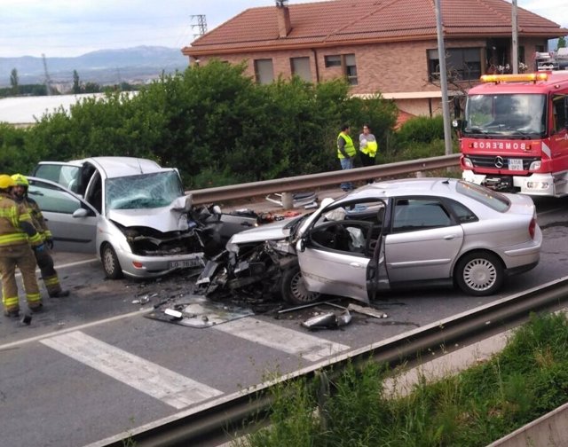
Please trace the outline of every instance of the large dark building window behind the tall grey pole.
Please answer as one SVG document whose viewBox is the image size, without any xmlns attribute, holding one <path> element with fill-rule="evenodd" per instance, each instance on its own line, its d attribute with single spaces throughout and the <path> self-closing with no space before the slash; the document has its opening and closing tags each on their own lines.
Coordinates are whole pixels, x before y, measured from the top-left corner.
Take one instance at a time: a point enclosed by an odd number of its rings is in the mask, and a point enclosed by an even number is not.
<svg viewBox="0 0 568 447">
<path fill-rule="evenodd" d="M 480 48 L 446 49 L 446 72 L 453 81 L 477 80 L 481 76 Z M 428 78 L 430 82 L 440 77 L 438 50 L 428 50 Z"/>
</svg>

